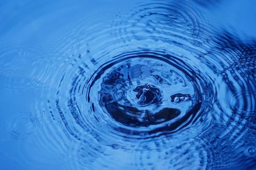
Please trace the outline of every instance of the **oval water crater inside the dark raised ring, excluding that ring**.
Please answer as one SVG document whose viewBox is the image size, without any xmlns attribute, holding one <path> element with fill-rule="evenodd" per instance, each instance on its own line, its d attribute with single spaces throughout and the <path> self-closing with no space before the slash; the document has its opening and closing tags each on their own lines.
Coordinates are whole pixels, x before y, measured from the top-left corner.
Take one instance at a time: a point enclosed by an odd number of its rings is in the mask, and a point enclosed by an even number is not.
<svg viewBox="0 0 256 170">
<path fill-rule="evenodd" d="M 101 78 L 98 101 L 102 111 L 128 127 L 165 122 L 178 126 L 186 121 L 196 104 L 195 85 L 188 72 L 166 61 L 131 57 L 104 67 L 96 76 Z"/>
</svg>

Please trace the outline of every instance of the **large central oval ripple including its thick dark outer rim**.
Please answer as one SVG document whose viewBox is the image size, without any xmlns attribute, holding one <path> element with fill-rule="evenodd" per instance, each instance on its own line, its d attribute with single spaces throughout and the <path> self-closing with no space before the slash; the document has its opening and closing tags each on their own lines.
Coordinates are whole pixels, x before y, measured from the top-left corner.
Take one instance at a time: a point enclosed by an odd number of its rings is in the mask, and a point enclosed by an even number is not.
<svg viewBox="0 0 256 170">
<path fill-rule="evenodd" d="M 175 57 L 157 52 L 137 51 L 115 57 L 90 80 L 87 96 L 93 112 L 111 116 L 122 124 L 113 128 L 131 130 L 136 135 L 171 133 L 189 125 L 204 110 L 202 103 L 207 102 L 195 72 L 175 62 Z"/>
</svg>

